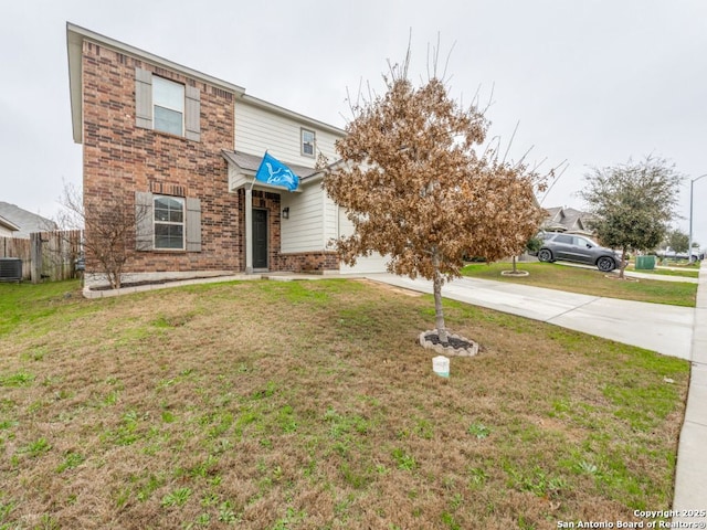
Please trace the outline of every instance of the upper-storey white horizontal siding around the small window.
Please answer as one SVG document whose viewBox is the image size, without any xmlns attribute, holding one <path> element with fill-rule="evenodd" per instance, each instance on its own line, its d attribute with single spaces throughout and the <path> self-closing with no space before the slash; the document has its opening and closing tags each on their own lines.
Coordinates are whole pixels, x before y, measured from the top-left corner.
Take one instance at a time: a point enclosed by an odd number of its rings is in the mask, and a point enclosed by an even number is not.
<svg viewBox="0 0 707 530">
<path fill-rule="evenodd" d="M 321 151 L 330 162 L 334 162 L 337 158 L 334 142 L 338 136 L 236 100 L 234 146 L 236 151 L 261 155 L 267 150 L 283 161 L 314 167 L 316 157 L 305 157 L 300 151 L 302 128 L 315 131 L 317 152 Z"/>
</svg>

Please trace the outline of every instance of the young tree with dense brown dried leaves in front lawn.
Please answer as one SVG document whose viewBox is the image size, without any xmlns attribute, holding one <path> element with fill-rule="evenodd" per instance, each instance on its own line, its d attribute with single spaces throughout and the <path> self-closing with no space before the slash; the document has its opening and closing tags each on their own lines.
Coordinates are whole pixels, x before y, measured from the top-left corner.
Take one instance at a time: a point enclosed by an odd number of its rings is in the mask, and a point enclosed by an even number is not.
<svg viewBox="0 0 707 530">
<path fill-rule="evenodd" d="M 408 60 L 383 76 L 384 95 L 352 104 L 336 146 L 341 162 L 324 188 L 355 226 L 337 242 L 342 259 L 379 252 L 390 272 L 432 280 L 436 330 L 447 344 L 443 283 L 460 276 L 465 255 L 496 261 L 523 251 L 545 216 L 534 193 L 542 179 L 482 149 L 484 113 L 452 99 L 436 68 L 413 86 Z"/>
</svg>

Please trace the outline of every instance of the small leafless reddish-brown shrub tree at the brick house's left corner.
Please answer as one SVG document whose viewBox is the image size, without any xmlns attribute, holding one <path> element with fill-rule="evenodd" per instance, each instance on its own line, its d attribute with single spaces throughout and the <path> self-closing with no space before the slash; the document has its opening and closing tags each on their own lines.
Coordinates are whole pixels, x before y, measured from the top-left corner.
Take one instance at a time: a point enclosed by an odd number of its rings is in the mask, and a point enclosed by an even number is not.
<svg viewBox="0 0 707 530">
<path fill-rule="evenodd" d="M 83 197 L 71 183 L 64 186 L 60 204 L 59 224 L 65 230 L 84 230 L 86 269 L 104 274 L 110 288 L 119 289 L 125 264 L 135 250 L 136 227 L 148 211 L 116 194 Z"/>
</svg>

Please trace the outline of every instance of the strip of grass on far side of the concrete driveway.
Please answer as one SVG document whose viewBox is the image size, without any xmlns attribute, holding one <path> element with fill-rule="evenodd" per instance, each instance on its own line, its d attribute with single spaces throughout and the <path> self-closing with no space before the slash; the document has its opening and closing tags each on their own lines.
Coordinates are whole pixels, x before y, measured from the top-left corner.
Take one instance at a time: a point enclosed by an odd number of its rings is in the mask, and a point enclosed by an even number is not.
<svg viewBox="0 0 707 530">
<path fill-rule="evenodd" d="M 697 299 L 697 284 L 643 278 L 621 280 L 613 277 L 616 273 L 608 275 L 597 269 L 557 263 L 518 263 L 517 267 L 520 271 L 528 271 L 530 275 L 502 276 L 502 271 L 511 269 L 510 263 L 473 263 L 466 265 L 462 269 L 462 274 L 479 279 L 514 282 L 569 293 L 672 306 L 695 307 Z"/>
</svg>

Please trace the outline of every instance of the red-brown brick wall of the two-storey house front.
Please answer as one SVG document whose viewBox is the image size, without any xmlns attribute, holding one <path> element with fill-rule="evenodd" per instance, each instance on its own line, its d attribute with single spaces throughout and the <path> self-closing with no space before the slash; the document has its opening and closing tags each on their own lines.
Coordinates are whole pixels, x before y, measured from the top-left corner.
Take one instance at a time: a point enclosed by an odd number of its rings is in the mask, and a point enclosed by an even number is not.
<svg viewBox="0 0 707 530">
<path fill-rule="evenodd" d="M 233 148 L 233 95 L 87 41 L 83 52 L 85 197 L 118 197 L 131 209 L 135 191 L 161 190 L 201 201 L 201 252 L 131 251 L 126 272 L 243 271 L 244 198 L 229 193 L 226 162 L 220 153 Z M 201 141 L 136 127 L 136 66 L 199 88 Z M 279 198 L 277 204 L 267 200 L 266 208 L 277 212 L 271 215 L 275 252 Z M 272 263 L 277 263 L 276 256 Z M 91 256 L 86 265 L 91 271 Z"/>
</svg>

